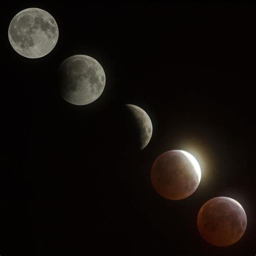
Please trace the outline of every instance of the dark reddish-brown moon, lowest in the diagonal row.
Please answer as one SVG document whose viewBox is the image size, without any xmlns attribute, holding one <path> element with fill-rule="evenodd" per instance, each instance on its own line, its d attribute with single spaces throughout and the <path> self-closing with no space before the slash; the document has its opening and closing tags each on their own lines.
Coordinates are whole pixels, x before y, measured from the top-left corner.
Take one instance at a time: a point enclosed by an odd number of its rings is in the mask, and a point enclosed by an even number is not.
<svg viewBox="0 0 256 256">
<path fill-rule="evenodd" d="M 232 198 L 215 197 L 208 200 L 197 217 L 198 231 L 209 244 L 232 245 L 245 233 L 246 213 Z"/>
</svg>

